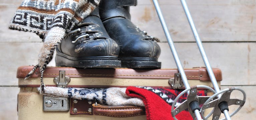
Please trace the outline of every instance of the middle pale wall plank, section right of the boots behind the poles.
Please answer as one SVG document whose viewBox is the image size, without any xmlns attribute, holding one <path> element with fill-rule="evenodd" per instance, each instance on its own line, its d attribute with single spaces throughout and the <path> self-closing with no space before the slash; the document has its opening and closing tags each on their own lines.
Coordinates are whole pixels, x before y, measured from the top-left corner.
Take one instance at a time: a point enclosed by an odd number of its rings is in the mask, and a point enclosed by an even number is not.
<svg viewBox="0 0 256 120">
<path fill-rule="evenodd" d="M 222 70 L 221 85 L 255 85 L 256 43 L 203 43 L 210 65 Z M 167 43 L 160 43 L 162 68 L 177 68 Z M 184 68 L 204 67 L 196 43 L 175 43 Z"/>
</svg>

